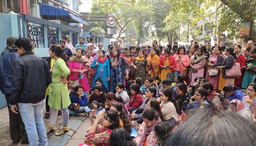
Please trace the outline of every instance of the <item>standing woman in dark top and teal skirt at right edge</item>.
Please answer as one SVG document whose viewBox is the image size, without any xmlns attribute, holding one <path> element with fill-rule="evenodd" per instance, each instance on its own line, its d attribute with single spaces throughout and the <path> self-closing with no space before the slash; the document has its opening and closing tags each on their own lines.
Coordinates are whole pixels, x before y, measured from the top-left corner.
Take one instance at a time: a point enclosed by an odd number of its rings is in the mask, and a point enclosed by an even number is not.
<svg viewBox="0 0 256 146">
<path fill-rule="evenodd" d="M 251 50 L 251 57 L 246 60 L 244 78 L 242 81 L 242 88 L 246 89 L 249 84 L 255 80 L 255 69 L 256 69 L 256 47 Z"/>
</svg>

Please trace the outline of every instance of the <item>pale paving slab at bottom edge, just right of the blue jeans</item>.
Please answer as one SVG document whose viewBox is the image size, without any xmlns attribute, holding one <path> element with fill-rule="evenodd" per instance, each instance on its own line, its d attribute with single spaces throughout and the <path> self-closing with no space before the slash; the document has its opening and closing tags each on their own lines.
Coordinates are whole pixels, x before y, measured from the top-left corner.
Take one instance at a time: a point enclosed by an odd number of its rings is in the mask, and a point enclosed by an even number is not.
<svg viewBox="0 0 256 146">
<path fill-rule="evenodd" d="M 63 134 L 60 136 L 52 135 L 48 139 L 48 146 L 65 146 L 66 143 L 68 143 L 69 139 L 71 139 L 71 137 L 67 134 Z"/>
</svg>

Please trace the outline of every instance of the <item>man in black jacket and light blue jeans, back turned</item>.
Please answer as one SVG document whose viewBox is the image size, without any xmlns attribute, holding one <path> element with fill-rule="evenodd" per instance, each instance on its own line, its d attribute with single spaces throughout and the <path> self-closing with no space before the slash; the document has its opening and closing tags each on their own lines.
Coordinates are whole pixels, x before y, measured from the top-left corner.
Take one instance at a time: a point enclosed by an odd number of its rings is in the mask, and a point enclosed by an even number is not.
<svg viewBox="0 0 256 146">
<path fill-rule="evenodd" d="M 52 82 L 45 59 L 32 52 L 30 39 L 19 38 L 14 42 L 20 57 L 12 64 L 11 111 L 18 114 L 17 103 L 25 124 L 29 145 L 47 146 L 47 136 L 42 110 L 45 106 L 45 90 Z"/>
</svg>

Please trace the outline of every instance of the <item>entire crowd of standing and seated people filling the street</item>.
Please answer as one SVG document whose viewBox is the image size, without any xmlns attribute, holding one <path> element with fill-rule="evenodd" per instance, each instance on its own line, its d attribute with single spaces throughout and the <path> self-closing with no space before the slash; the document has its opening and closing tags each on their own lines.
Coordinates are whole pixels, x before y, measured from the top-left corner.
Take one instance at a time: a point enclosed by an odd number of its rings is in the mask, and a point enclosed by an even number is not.
<svg viewBox="0 0 256 146">
<path fill-rule="evenodd" d="M 252 41 L 244 49 L 241 43 L 191 42 L 185 48 L 153 41 L 123 49 L 109 45 L 107 52 L 93 38 L 86 41 L 80 37 L 74 47 L 67 36 L 41 58 L 30 39 L 7 39 L 0 89 L 14 143 L 47 146 L 46 135 L 65 134 L 69 116 L 76 115 L 90 117 L 87 145 L 256 145 Z M 57 115 L 63 127 L 56 131 Z M 47 129 L 43 117 L 50 118 Z"/>
</svg>

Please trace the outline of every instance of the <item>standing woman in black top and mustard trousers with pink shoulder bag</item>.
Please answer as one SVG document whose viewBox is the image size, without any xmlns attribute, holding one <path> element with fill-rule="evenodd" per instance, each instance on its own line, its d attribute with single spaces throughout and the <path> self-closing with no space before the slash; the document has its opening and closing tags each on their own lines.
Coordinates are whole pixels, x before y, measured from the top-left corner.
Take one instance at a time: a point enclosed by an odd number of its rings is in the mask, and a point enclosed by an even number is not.
<svg viewBox="0 0 256 146">
<path fill-rule="evenodd" d="M 234 86 L 235 79 L 234 78 L 227 78 L 225 69 L 230 69 L 236 63 L 236 54 L 234 53 L 234 49 L 232 47 L 228 47 L 224 55 L 227 58 L 222 62 L 221 66 L 216 66 L 215 69 L 220 70 L 220 77 L 219 77 L 219 90 L 222 90 L 224 86 L 231 85 Z"/>
</svg>

